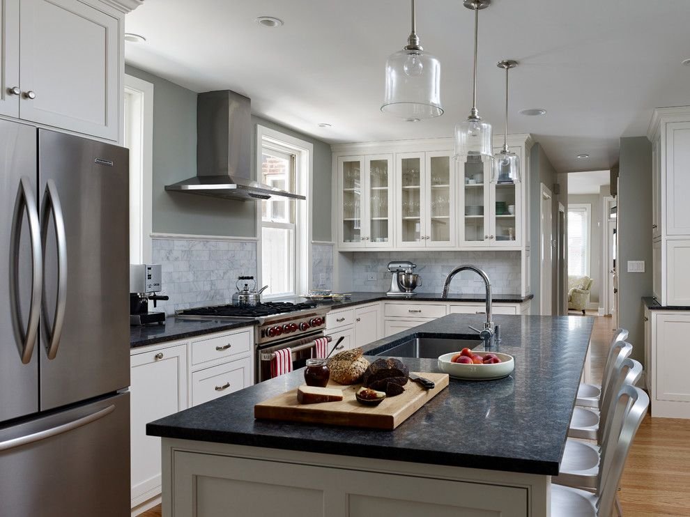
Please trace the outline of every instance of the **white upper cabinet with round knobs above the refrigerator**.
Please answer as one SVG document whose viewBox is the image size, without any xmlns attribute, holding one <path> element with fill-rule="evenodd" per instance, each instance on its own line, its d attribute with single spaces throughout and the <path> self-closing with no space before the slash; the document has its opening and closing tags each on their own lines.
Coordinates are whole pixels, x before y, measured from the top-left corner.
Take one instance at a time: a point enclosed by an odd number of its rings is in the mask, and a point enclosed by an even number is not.
<svg viewBox="0 0 690 517">
<path fill-rule="evenodd" d="M 0 1 L 0 114 L 118 141 L 128 6 L 98 0 Z"/>
</svg>

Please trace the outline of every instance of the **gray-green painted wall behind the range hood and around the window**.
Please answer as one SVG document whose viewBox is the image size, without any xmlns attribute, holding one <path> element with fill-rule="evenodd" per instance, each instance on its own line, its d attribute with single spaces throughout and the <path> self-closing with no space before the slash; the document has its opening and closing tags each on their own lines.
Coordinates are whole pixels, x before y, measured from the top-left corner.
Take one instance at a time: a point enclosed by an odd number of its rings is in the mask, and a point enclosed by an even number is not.
<svg viewBox="0 0 690 517">
<path fill-rule="evenodd" d="M 164 186 L 197 173 L 197 93 L 144 70 L 125 73 L 153 84 L 153 231 L 201 236 L 256 237 L 257 203 L 166 192 Z M 314 144 L 313 238 L 331 240 L 331 152 L 323 141 L 252 116 L 252 174 L 256 124 Z"/>
</svg>

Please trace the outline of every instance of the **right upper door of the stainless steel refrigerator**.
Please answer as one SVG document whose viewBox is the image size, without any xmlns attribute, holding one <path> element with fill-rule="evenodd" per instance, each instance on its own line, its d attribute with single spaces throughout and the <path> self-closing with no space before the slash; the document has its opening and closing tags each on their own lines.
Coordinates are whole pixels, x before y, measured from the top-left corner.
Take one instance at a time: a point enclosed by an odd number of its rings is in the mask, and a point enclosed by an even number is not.
<svg viewBox="0 0 690 517">
<path fill-rule="evenodd" d="M 129 385 L 128 150 L 38 130 L 40 408 Z"/>
</svg>

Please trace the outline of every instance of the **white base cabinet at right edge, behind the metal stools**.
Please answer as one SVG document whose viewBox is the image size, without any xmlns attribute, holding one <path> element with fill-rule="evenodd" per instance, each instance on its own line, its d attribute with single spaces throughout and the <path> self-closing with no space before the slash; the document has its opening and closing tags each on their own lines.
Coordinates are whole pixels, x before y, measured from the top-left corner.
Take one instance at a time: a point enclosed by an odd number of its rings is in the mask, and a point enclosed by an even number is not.
<svg viewBox="0 0 690 517">
<path fill-rule="evenodd" d="M 690 311 L 645 309 L 645 360 L 652 417 L 690 418 Z"/>
</svg>

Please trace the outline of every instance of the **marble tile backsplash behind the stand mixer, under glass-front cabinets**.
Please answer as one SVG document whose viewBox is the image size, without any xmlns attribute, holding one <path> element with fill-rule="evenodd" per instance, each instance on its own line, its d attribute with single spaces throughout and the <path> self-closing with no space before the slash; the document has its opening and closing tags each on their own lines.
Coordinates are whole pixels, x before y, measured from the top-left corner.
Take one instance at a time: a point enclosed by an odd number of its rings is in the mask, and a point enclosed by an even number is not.
<svg viewBox="0 0 690 517">
<path fill-rule="evenodd" d="M 422 276 L 420 293 L 440 293 L 448 273 L 461 264 L 486 271 L 496 294 L 520 294 L 520 252 L 354 252 L 353 291 L 388 291 L 390 261 L 411 261 Z M 373 279 L 371 279 L 373 277 Z M 450 293 L 484 293 L 484 281 L 475 272 L 463 271 L 450 284 Z"/>
</svg>

